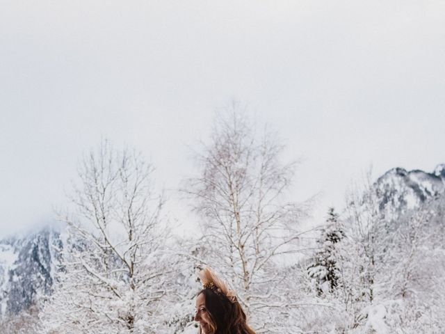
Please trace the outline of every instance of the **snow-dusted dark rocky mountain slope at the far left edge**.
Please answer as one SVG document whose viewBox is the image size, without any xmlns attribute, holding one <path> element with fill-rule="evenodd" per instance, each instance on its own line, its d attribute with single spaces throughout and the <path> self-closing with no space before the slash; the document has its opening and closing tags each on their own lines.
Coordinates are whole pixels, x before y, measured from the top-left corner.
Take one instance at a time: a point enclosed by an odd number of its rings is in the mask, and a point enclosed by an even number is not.
<svg viewBox="0 0 445 334">
<path fill-rule="evenodd" d="M 17 314 L 51 293 L 60 234 L 49 228 L 0 241 L 0 316 Z"/>
</svg>

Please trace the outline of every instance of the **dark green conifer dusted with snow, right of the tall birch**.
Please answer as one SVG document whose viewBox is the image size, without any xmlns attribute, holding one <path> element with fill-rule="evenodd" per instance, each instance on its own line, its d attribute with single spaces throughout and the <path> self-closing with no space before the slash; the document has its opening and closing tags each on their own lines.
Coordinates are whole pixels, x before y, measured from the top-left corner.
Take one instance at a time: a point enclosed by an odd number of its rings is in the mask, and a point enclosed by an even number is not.
<svg viewBox="0 0 445 334">
<path fill-rule="evenodd" d="M 338 255 L 335 246 L 343 237 L 344 231 L 339 223 L 339 215 L 331 207 L 321 230 L 321 238 L 318 240 L 319 250 L 307 269 L 309 277 L 314 279 L 318 295 L 334 292 L 339 285 Z"/>
</svg>

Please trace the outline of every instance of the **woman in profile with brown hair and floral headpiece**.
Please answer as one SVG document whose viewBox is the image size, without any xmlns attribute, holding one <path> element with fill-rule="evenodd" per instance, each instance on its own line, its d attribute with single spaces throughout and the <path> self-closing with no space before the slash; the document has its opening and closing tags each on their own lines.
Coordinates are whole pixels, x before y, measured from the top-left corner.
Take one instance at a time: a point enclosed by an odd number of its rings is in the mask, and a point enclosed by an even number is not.
<svg viewBox="0 0 445 334">
<path fill-rule="evenodd" d="M 195 321 L 200 334 L 255 334 L 232 290 L 210 269 L 200 272 L 202 290 L 196 297 Z"/>
</svg>

